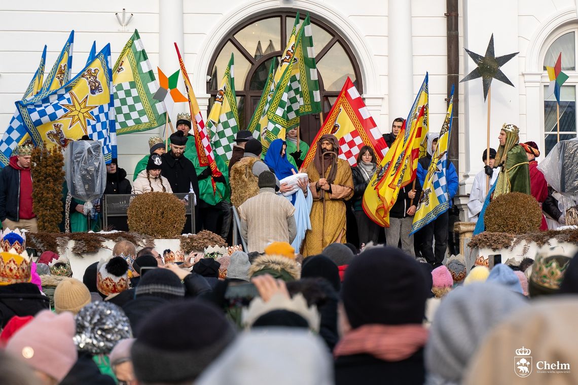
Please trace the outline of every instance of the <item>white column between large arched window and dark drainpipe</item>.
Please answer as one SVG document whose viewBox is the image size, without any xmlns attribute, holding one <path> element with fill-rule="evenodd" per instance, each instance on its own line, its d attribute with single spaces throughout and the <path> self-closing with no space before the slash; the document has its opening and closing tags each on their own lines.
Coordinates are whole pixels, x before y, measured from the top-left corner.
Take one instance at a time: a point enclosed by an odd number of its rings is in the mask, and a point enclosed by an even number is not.
<svg viewBox="0 0 578 385">
<path fill-rule="evenodd" d="M 413 87 L 413 49 L 412 49 L 412 2 L 409 0 L 390 0 L 387 13 L 388 30 L 388 114 L 387 122 L 391 132 L 394 118 L 405 117 L 412 107 Z"/>
</svg>

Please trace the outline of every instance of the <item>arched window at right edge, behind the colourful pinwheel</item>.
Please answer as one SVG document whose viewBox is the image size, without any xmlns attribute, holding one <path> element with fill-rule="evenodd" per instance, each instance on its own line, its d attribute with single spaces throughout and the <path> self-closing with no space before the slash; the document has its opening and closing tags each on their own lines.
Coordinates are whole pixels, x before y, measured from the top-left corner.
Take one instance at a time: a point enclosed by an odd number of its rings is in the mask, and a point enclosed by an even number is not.
<svg viewBox="0 0 578 385">
<path fill-rule="evenodd" d="M 560 140 L 576 137 L 576 46 L 578 44 L 578 27 L 565 28 L 552 36 L 550 45 L 544 56 L 544 73 L 542 84 L 544 91 L 544 155 L 557 143 L 557 112 L 556 98 L 548 95 L 549 78 L 546 66 L 553 67 L 562 53 L 561 70 L 569 79 L 560 89 Z M 528 140 L 532 140 L 528 138 Z"/>
</svg>

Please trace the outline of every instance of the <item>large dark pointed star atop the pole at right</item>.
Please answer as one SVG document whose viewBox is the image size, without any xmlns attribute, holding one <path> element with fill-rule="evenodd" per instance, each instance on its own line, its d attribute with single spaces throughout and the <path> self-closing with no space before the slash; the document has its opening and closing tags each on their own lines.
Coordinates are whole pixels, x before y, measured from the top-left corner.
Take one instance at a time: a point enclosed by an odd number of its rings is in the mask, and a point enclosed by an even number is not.
<svg viewBox="0 0 578 385">
<path fill-rule="evenodd" d="M 503 55 L 500 57 L 495 57 L 494 33 L 492 33 L 490 43 L 488 43 L 488 48 L 486 50 L 485 56 L 473 53 L 472 51 L 468 50 L 468 48 L 464 48 L 464 50 L 466 50 L 468 55 L 470 55 L 470 58 L 472 58 L 473 61 L 476 62 L 477 68 L 472 72 L 470 72 L 468 76 L 464 77 L 464 79 L 460 80 L 460 83 L 462 81 L 468 81 L 481 77 L 484 84 L 484 102 L 486 101 L 486 98 L 488 96 L 488 89 L 490 89 L 492 79 L 497 79 L 499 81 L 502 81 L 503 83 L 509 84 L 512 87 L 514 87 L 512 82 L 509 79 L 507 79 L 506 75 L 502 72 L 500 67 L 503 66 L 505 63 L 507 63 L 514 56 L 516 56 L 519 52 Z"/>
</svg>

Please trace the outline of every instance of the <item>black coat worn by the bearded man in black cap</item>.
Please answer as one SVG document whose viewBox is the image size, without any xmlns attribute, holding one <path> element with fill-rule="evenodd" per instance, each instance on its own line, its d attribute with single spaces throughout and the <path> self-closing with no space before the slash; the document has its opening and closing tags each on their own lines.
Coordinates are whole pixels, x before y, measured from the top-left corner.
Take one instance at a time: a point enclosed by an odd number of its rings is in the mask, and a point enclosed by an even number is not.
<svg viewBox="0 0 578 385">
<path fill-rule="evenodd" d="M 181 156 L 179 159 L 173 158 L 171 151 L 161 156 L 161 174 L 168 179 L 173 193 L 188 193 L 192 185 L 198 202 L 199 199 L 201 199 L 199 195 L 199 182 L 197 181 L 197 171 L 195 171 L 195 166 L 192 165 L 192 162 L 184 156 Z"/>
</svg>

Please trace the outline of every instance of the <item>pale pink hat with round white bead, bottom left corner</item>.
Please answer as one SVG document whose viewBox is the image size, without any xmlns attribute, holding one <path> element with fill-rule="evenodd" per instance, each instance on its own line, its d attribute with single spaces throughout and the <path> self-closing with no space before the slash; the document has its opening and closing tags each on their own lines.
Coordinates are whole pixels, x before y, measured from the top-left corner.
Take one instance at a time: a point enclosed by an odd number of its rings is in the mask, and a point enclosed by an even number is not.
<svg viewBox="0 0 578 385">
<path fill-rule="evenodd" d="M 6 351 L 60 383 L 78 358 L 74 335 L 72 313 L 43 310 L 10 338 Z"/>
</svg>

